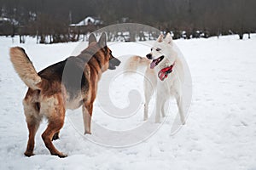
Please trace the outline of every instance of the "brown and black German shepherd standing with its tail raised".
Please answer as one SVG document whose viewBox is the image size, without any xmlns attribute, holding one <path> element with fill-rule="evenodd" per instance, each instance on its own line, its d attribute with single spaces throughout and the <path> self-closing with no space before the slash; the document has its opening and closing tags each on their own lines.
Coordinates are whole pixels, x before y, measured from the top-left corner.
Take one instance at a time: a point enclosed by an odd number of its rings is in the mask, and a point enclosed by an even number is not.
<svg viewBox="0 0 256 170">
<path fill-rule="evenodd" d="M 114 70 L 120 64 L 107 46 L 106 33 L 99 42 L 90 34 L 89 46 L 76 57 L 69 57 L 37 73 L 23 48 L 10 48 L 10 59 L 28 91 L 23 100 L 29 139 L 26 156 L 33 155 L 35 134 L 43 117 L 48 127 L 42 134 L 51 155 L 65 157 L 55 149 L 52 139 L 59 138 L 65 111 L 83 105 L 84 133 L 90 133 L 93 102 L 102 72 Z"/>
</svg>

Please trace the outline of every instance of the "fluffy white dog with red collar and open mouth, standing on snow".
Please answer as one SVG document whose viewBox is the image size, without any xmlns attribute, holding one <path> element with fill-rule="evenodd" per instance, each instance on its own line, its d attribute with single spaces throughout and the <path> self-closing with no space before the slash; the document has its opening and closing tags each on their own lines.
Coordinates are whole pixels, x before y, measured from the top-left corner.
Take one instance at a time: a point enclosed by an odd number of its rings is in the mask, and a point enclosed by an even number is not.
<svg viewBox="0 0 256 170">
<path fill-rule="evenodd" d="M 136 71 L 140 65 L 147 66 L 144 75 L 144 120 L 148 119 L 148 103 L 156 89 L 155 122 L 160 122 L 160 113 L 166 116 L 166 101 L 174 96 L 181 122 L 185 123 L 182 97 L 183 64 L 177 57 L 173 45 L 172 36 L 169 33 L 165 38 L 161 34 L 154 42 L 151 53 L 147 54 L 148 59 L 133 56 L 125 64 L 125 71 Z"/>
</svg>

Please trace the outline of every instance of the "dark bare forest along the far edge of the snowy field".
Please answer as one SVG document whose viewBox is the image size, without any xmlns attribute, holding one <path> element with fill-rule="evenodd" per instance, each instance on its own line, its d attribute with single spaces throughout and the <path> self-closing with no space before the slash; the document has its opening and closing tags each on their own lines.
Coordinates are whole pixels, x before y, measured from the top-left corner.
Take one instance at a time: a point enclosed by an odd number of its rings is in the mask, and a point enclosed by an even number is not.
<svg viewBox="0 0 256 170">
<path fill-rule="evenodd" d="M 87 16 L 102 24 L 71 30 L 70 24 Z M 174 38 L 237 34 L 242 39 L 256 31 L 256 1 L 0 0 L 0 19 L 0 35 L 38 36 L 40 42 L 49 35 L 50 42 L 76 41 L 88 31 L 124 22 L 172 31 Z"/>
</svg>

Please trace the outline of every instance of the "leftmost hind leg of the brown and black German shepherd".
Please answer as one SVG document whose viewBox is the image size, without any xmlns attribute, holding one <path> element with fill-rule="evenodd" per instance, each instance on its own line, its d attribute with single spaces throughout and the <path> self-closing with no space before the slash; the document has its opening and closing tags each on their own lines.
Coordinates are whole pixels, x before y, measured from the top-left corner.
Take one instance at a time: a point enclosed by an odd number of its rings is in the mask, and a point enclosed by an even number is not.
<svg viewBox="0 0 256 170">
<path fill-rule="evenodd" d="M 39 116 L 39 110 L 35 103 L 31 103 L 28 99 L 23 100 L 24 112 L 26 116 L 27 128 L 29 131 L 28 141 L 26 145 L 25 156 L 33 156 L 35 145 L 35 135 L 38 131 L 42 117 Z"/>
</svg>

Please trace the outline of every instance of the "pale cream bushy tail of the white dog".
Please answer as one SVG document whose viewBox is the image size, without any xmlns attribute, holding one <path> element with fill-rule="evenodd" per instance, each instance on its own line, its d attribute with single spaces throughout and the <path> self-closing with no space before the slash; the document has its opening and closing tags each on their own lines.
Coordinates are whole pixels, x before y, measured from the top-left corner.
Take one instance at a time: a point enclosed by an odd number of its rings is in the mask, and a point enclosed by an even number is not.
<svg viewBox="0 0 256 170">
<path fill-rule="evenodd" d="M 125 62 L 124 71 L 137 71 L 139 67 L 146 67 L 150 64 L 149 59 L 140 56 L 133 56 Z"/>
</svg>

